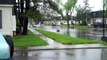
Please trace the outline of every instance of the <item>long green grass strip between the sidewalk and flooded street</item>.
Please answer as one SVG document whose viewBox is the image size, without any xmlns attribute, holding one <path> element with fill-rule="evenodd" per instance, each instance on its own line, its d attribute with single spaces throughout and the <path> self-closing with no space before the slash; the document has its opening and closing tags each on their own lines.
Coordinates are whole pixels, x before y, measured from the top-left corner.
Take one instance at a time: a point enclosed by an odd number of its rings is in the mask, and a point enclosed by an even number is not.
<svg viewBox="0 0 107 60">
<path fill-rule="evenodd" d="M 49 32 L 41 29 L 37 29 L 38 32 L 52 38 L 53 40 L 60 42 L 62 44 L 72 45 L 72 44 L 93 44 L 98 43 L 95 40 L 82 39 L 82 38 L 74 38 L 67 35 L 62 35 L 54 32 Z"/>
</svg>

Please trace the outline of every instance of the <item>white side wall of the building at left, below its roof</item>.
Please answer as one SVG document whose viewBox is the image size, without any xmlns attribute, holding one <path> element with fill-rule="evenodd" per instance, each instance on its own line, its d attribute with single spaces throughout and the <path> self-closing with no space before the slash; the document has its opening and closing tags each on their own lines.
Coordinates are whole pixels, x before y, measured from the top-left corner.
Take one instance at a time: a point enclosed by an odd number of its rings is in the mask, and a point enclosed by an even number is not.
<svg viewBox="0 0 107 60">
<path fill-rule="evenodd" d="M 13 36 L 12 6 L 0 5 L 2 10 L 2 28 L 0 33 Z"/>
</svg>

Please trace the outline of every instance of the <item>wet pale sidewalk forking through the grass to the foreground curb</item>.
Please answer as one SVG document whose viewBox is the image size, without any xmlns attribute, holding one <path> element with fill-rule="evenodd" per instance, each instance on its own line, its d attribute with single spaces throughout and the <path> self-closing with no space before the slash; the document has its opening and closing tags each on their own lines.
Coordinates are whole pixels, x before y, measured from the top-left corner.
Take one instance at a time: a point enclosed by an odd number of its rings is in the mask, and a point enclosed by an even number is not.
<svg viewBox="0 0 107 60">
<path fill-rule="evenodd" d="M 48 42 L 48 46 L 37 46 L 37 47 L 17 47 L 15 51 L 21 50 L 28 50 L 28 51 L 35 51 L 35 50 L 68 50 L 68 49 L 106 49 L 107 46 L 102 44 L 80 44 L 80 45 L 63 45 L 54 41 L 53 39 L 44 36 L 43 34 L 34 30 L 34 28 L 29 28 L 31 32 L 40 36 L 43 40 Z"/>
</svg>

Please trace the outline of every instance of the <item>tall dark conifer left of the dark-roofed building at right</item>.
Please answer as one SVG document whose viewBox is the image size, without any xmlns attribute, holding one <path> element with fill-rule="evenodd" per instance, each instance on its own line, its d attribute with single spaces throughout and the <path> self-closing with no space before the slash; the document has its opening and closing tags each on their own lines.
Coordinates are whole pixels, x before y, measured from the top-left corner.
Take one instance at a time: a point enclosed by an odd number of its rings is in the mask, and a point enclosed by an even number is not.
<svg viewBox="0 0 107 60">
<path fill-rule="evenodd" d="M 88 4 L 88 0 L 84 1 L 84 7 L 81 7 L 80 5 L 78 7 L 76 7 L 76 11 L 77 11 L 77 16 L 76 19 L 79 21 L 79 24 L 81 25 L 87 25 L 88 24 L 88 20 L 90 20 L 90 7 Z M 82 22 L 82 23 L 80 23 Z"/>
</svg>

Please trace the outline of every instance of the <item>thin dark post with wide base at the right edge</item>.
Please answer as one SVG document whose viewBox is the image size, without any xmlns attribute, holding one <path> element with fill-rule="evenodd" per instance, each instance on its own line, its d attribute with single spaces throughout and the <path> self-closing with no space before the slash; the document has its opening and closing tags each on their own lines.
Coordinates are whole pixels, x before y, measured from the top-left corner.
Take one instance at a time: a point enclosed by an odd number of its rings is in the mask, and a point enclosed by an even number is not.
<svg viewBox="0 0 107 60">
<path fill-rule="evenodd" d="M 107 42 L 107 37 L 105 36 L 105 0 L 103 0 L 103 36 L 101 38 L 102 41 Z"/>
</svg>

